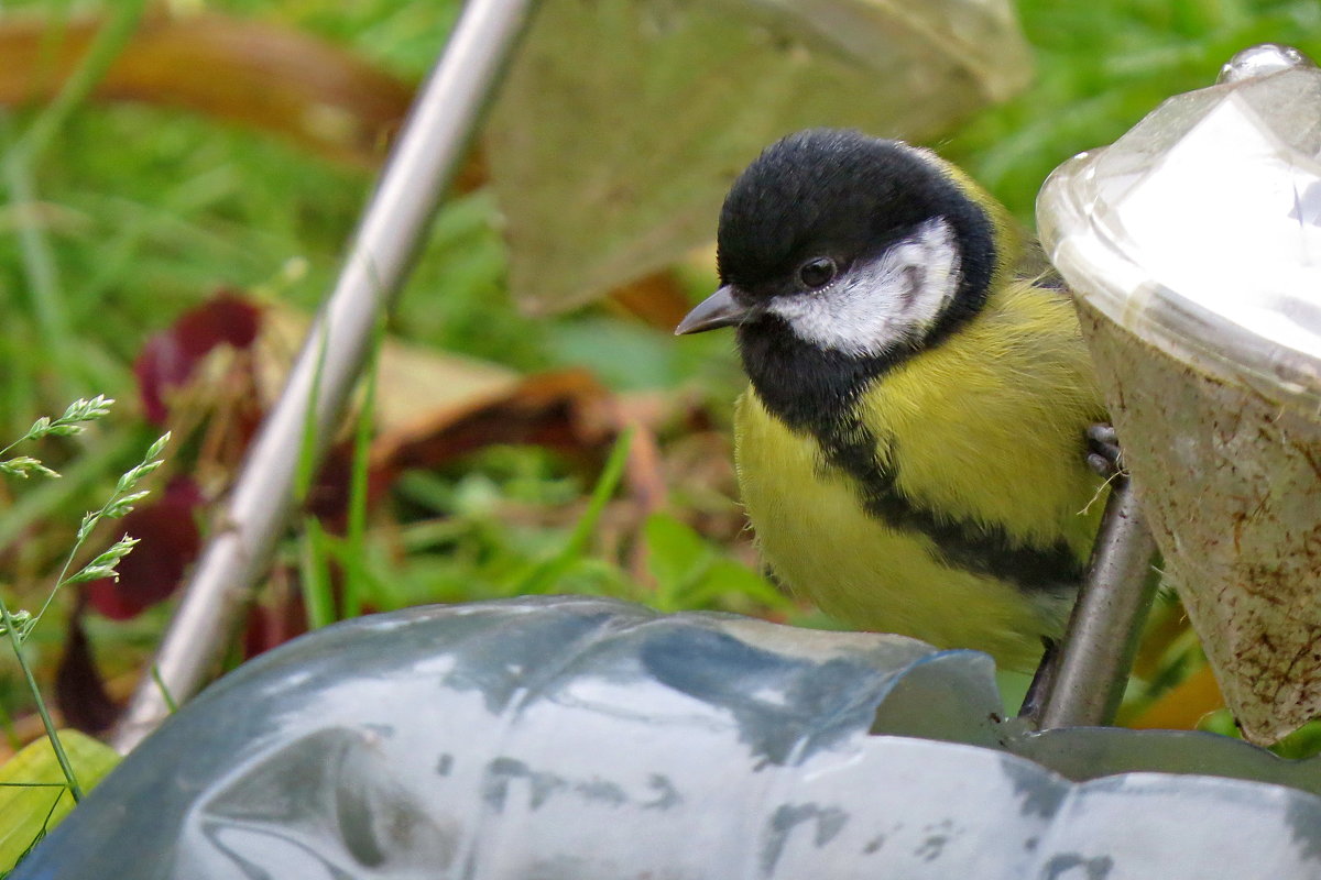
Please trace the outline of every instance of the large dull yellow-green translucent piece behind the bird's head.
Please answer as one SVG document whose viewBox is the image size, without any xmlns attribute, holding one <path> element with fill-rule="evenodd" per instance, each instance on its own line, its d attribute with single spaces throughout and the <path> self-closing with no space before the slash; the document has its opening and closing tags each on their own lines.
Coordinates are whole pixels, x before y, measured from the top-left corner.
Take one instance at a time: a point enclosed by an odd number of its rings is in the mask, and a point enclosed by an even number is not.
<svg viewBox="0 0 1321 880">
<path fill-rule="evenodd" d="M 1029 57 L 1005 0 L 544 4 L 483 132 L 510 288 L 560 311 L 670 267 L 774 139 L 930 139 L 1024 86 Z"/>
</svg>

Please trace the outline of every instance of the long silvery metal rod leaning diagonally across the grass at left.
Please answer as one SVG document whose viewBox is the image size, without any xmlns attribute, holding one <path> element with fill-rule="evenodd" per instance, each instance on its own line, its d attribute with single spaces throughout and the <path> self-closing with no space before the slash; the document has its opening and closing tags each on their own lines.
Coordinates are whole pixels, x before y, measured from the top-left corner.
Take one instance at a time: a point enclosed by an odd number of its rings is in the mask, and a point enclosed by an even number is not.
<svg viewBox="0 0 1321 880">
<path fill-rule="evenodd" d="M 464 7 L 413 102 L 334 290 L 215 517 L 157 649 L 160 682 L 143 676 L 115 732 L 114 744 L 120 752 L 131 751 L 168 715 L 162 687 L 182 702 L 214 670 L 292 512 L 309 409 L 320 462 L 362 368 L 376 318 L 388 309 L 412 267 L 417 244 L 464 158 L 532 5 L 532 0 L 470 0 Z"/>
</svg>

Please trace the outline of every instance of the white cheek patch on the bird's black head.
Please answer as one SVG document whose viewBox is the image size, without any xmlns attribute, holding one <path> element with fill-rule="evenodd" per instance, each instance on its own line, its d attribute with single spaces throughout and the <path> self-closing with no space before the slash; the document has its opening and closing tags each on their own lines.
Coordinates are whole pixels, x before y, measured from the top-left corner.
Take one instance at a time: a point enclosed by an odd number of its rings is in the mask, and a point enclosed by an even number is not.
<svg viewBox="0 0 1321 880">
<path fill-rule="evenodd" d="M 880 355 L 921 338 L 958 286 L 954 230 L 935 218 L 876 259 L 856 263 L 828 288 L 775 297 L 768 311 L 804 342 L 847 355 Z"/>
</svg>

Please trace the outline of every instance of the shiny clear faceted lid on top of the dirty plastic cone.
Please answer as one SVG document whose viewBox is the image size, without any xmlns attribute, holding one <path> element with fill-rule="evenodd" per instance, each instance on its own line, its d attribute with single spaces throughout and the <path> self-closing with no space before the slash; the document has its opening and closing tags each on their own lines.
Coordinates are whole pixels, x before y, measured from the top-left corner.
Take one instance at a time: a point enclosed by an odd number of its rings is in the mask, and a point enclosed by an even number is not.
<svg viewBox="0 0 1321 880">
<path fill-rule="evenodd" d="M 1211 375 L 1321 408 L 1321 70 L 1236 54 L 1111 146 L 1061 165 L 1041 240 L 1077 294 Z"/>
</svg>

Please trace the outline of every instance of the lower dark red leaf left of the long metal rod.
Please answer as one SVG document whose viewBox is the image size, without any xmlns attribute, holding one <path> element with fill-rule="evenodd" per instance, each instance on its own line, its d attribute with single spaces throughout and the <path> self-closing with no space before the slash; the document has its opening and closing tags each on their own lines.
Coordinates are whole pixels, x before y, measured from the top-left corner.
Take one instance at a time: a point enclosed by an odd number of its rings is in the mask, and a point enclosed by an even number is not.
<svg viewBox="0 0 1321 880">
<path fill-rule="evenodd" d="M 120 561 L 118 582 L 102 578 L 87 584 L 91 607 L 114 620 L 127 620 L 174 592 L 201 546 L 193 517 L 201 504 L 197 484 L 176 476 L 155 504 L 125 516 L 120 532 L 140 544 Z"/>
</svg>

